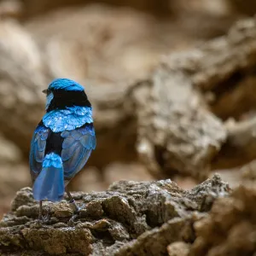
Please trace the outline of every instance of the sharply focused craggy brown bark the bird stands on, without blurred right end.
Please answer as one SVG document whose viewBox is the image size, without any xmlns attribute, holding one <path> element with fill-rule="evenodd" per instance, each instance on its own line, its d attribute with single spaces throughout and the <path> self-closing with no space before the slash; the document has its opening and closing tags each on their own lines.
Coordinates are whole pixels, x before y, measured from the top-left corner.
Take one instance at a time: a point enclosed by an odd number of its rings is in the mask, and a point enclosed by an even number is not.
<svg viewBox="0 0 256 256">
<path fill-rule="evenodd" d="M 74 222 L 67 201 L 45 202 L 50 218 L 39 223 L 38 204 L 25 188 L 0 223 L 0 249 L 4 255 L 166 255 L 174 241 L 193 242 L 195 220 L 229 193 L 218 176 L 188 191 L 171 180 L 119 182 L 105 192 L 75 193 L 86 207 Z"/>
</svg>

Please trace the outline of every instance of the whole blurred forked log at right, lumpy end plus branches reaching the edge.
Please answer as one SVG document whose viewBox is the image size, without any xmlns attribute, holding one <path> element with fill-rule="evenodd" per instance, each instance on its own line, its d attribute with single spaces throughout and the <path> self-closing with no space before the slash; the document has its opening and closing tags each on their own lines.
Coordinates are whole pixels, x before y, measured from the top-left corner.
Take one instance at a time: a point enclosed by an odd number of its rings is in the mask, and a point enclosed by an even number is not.
<svg viewBox="0 0 256 256">
<path fill-rule="evenodd" d="M 224 125 L 216 117 L 239 120 L 255 109 L 255 45 L 256 20 L 241 20 L 224 37 L 166 56 L 135 84 L 137 152 L 156 177 L 178 172 L 200 179 L 210 168 L 255 158 L 255 119 Z"/>
</svg>

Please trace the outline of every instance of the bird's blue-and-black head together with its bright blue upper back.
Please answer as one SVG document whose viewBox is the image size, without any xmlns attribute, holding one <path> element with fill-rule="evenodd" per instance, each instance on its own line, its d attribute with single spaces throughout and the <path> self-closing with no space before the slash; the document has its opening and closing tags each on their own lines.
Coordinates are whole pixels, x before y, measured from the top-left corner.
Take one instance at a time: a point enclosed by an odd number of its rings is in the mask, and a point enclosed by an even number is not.
<svg viewBox="0 0 256 256">
<path fill-rule="evenodd" d="M 71 79 L 55 79 L 49 84 L 46 111 L 43 123 L 54 132 L 72 131 L 93 123 L 84 87 Z"/>
</svg>

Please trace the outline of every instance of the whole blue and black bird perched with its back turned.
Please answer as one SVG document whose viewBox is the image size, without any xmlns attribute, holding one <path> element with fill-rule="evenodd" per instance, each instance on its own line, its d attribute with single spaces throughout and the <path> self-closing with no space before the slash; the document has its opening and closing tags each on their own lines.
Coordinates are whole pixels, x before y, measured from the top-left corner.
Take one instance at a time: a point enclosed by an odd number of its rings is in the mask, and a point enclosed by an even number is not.
<svg viewBox="0 0 256 256">
<path fill-rule="evenodd" d="M 67 183 L 96 148 L 92 109 L 83 86 L 70 79 L 55 79 L 43 92 L 46 113 L 33 133 L 29 156 L 32 193 L 39 201 L 39 218 L 42 218 L 43 201 L 61 201 Z"/>
</svg>

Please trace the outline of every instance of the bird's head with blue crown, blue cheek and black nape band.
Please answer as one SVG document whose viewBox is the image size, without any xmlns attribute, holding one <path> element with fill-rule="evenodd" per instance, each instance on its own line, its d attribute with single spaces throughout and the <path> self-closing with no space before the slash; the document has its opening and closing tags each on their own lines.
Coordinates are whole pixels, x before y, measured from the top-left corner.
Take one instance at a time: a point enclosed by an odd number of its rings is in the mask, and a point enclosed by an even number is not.
<svg viewBox="0 0 256 256">
<path fill-rule="evenodd" d="M 73 106 L 91 106 L 84 87 L 71 79 L 55 79 L 43 92 L 46 94 L 47 112 Z"/>
</svg>

